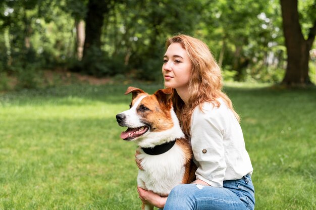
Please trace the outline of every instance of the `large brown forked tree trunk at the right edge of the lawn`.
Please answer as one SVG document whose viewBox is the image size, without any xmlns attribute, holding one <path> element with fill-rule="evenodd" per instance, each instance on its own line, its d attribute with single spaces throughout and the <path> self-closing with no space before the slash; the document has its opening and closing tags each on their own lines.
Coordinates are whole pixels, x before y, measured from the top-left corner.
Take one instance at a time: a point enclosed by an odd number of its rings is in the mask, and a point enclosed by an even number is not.
<svg viewBox="0 0 316 210">
<path fill-rule="evenodd" d="M 287 68 L 282 84 L 311 84 L 308 76 L 309 50 L 316 33 L 316 21 L 305 40 L 299 24 L 297 0 L 281 0 L 283 32 L 287 48 Z"/>
</svg>

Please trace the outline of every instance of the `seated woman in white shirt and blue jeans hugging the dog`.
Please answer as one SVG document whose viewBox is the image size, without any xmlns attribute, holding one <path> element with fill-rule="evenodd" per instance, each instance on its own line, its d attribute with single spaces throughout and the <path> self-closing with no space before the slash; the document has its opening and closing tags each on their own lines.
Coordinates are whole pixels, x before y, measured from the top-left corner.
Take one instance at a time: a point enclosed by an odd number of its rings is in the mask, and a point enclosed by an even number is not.
<svg viewBox="0 0 316 210">
<path fill-rule="evenodd" d="M 138 187 L 140 199 L 165 210 L 254 209 L 253 169 L 218 64 L 204 42 L 187 35 L 169 38 L 166 49 L 165 86 L 175 89 L 174 108 L 198 169 L 193 183 L 168 197 Z"/>
</svg>

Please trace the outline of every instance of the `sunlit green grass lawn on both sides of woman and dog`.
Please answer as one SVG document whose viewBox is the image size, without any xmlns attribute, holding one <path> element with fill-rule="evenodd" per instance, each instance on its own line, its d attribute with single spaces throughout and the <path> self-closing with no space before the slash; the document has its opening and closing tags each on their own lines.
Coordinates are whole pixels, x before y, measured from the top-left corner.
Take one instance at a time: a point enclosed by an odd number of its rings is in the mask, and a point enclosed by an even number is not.
<svg viewBox="0 0 316 210">
<path fill-rule="evenodd" d="M 115 119 L 128 109 L 127 86 L 0 94 L 0 209 L 140 209 L 137 146 Z M 242 119 L 256 209 L 316 209 L 316 89 L 225 91 Z"/>
</svg>

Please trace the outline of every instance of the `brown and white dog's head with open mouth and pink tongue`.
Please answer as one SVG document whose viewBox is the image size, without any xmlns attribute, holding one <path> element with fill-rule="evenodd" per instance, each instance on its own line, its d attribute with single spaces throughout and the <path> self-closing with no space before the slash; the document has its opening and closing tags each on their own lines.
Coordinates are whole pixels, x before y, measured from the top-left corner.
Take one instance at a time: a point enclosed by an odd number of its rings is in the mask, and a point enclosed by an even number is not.
<svg viewBox="0 0 316 210">
<path fill-rule="evenodd" d="M 132 141 L 157 138 L 172 130 L 174 124 L 179 124 L 172 108 L 172 88 L 159 89 L 149 95 L 139 88 L 128 87 L 125 94 L 129 93 L 132 93 L 130 109 L 116 115 L 119 125 L 128 127 L 122 132 L 122 139 Z"/>
</svg>

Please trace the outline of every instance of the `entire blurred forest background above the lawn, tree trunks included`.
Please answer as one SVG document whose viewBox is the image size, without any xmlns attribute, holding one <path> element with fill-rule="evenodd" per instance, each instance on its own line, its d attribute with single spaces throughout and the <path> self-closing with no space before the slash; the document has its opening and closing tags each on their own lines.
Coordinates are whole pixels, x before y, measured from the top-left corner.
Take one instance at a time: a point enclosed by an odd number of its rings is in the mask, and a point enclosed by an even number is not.
<svg viewBox="0 0 316 210">
<path fill-rule="evenodd" d="M 315 82 L 314 0 L 3 0 L 0 89 L 39 87 L 43 70 L 162 82 L 178 33 L 205 41 L 225 80 Z"/>
</svg>

